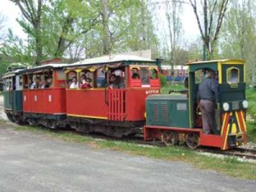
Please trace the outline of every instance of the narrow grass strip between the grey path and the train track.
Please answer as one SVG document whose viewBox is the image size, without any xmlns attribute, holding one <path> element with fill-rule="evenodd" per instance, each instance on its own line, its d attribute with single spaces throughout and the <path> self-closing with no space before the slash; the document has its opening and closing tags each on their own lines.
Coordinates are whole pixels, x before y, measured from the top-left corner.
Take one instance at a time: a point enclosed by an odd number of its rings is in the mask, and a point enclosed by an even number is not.
<svg viewBox="0 0 256 192">
<path fill-rule="evenodd" d="M 6 124 L 0 121 L 0 124 Z M 126 141 L 115 140 L 95 140 L 90 136 L 82 136 L 73 132 L 53 132 L 49 129 L 40 129 L 40 127 L 12 125 L 16 131 L 28 131 L 35 134 L 42 134 L 51 138 L 63 141 L 84 143 L 96 148 L 108 148 L 129 154 L 150 157 L 154 159 L 164 159 L 166 161 L 181 161 L 193 164 L 196 168 L 215 170 L 225 173 L 232 177 L 241 179 L 256 179 L 256 164 L 245 163 L 233 157 L 209 157 L 184 147 L 152 147 L 147 145 L 138 145 Z"/>
</svg>

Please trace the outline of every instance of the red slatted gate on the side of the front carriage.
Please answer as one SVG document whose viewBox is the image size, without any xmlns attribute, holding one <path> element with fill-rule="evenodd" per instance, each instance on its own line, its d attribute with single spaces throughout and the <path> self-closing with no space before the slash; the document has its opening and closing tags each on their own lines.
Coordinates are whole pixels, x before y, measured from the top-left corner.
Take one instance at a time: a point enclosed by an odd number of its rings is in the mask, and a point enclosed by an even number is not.
<svg viewBox="0 0 256 192">
<path fill-rule="evenodd" d="M 125 90 L 108 90 L 108 120 L 123 121 L 125 118 Z"/>
</svg>

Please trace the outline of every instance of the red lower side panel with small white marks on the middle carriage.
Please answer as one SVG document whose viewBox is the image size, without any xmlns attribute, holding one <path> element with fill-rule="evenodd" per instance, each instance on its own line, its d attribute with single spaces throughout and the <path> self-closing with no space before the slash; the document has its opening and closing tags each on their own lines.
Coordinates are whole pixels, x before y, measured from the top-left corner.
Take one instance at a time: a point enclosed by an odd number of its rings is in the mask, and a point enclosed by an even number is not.
<svg viewBox="0 0 256 192">
<path fill-rule="evenodd" d="M 24 113 L 66 113 L 65 88 L 23 90 L 22 93 Z"/>
</svg>

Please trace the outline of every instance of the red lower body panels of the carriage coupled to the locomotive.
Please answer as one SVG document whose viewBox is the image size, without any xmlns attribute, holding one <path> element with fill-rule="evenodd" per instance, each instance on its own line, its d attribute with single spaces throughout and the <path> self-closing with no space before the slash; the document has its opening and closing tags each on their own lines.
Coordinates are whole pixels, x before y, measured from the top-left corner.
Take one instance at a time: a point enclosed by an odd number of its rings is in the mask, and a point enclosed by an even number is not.
<svg viewBox="0 0 256 192">
<path fill-rule="evenodd" d="M 81 117 L 108 117 L 108 120 L 115 121 L 144 121 L 148 92 L 159 92 L 159 90 L 158 88 L 109 89 L 106 92 L 101 89 L 67 90 L 67 113 Z"/>
</svg>

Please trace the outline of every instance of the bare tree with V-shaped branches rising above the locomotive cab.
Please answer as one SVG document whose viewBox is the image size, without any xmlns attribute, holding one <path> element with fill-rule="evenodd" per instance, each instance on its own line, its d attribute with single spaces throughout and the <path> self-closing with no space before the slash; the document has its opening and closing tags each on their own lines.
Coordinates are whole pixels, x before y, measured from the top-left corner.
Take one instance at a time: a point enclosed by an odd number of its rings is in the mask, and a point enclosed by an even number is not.
<svg viewBox="0 0 256 192">
<path fill-rule="evenodd" d="M 189 0 L 189 3 L 195 13 L 200 35 L 207 49 L 207 58 L 212 59 L 229 0 L 204 0 L 200 3 L 198 0 Z"/>
</svg>

